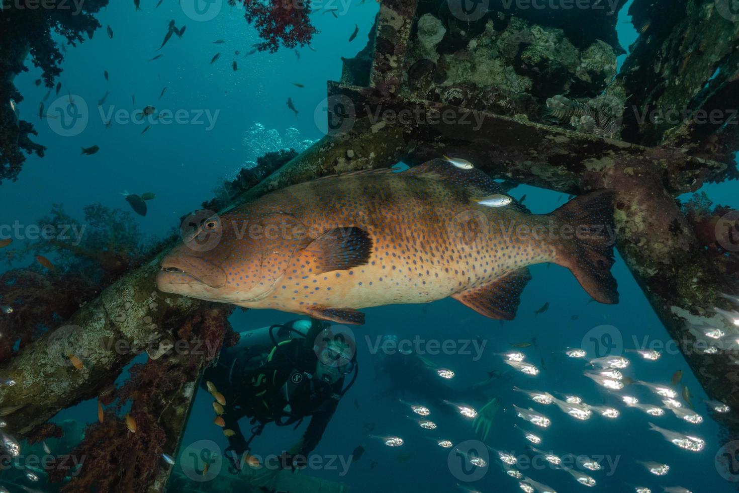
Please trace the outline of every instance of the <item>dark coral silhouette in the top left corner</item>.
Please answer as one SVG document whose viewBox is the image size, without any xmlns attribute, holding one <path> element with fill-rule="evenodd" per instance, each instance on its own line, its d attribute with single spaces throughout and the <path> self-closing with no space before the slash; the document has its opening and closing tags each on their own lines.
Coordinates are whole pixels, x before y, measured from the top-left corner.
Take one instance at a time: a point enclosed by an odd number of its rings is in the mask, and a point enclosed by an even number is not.
<svg viewBox="0 0 739 493">
<path fill-rule="evenodd" d="M 108 0 L 88 0 L 76 4 L 62 0 L 44 1 L 44 8 L 26 8 L 17 2 L 2 2 L 0 15 L 0 183 L 16 180 L 25 161 L 26 153 L 44 155 L 44 147 L 33 143 L 30 135 L 36 135 L 33 125 L 18 120 L 10 100 L 22 101 L 23 97 L 13 85 L 13 78 L 28 69 L 27 56 L 43 71 L 47 87 L 61 73 L 59 64 L 64 56 L 52 39 L 52 32 L 67 38 L 75 46 L 84 41 L 86 34 L 92 38 L 100 23 L 93 14 L 106 7 Z"/>
</svg>

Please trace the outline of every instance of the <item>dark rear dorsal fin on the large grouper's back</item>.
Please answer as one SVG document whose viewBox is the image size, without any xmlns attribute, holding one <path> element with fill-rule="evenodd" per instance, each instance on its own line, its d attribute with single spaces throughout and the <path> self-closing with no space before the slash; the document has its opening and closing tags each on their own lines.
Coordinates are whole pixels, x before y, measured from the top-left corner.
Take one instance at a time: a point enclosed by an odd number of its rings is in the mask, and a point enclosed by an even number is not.
<svg viewBox="0 0 739 493">
<path fill-rule="evenodd" d="M 418 175 L 419 177 L 445 180 L 448 183 L 454 183 L 458 186 L 469 188 L 472 197 L 478 199 L 494 194 L 508 195 L 503 186 L 489 177 L 485 171 L 476 168 L 457 168 L 457 166 L 454 166 L 449 161 L 443 159 L 432 159 L 430 161 L 426 161 L 426 163 L 419 164 L 418 166 L 414 166 L 411 169 L 403 171 L 403 174 L 412 174 Z M 522 205 L 517 203 L 516 200 L 508 205 L 508 208 L 528 212 L 528 209 L 522 207 Z"/>
</svg>

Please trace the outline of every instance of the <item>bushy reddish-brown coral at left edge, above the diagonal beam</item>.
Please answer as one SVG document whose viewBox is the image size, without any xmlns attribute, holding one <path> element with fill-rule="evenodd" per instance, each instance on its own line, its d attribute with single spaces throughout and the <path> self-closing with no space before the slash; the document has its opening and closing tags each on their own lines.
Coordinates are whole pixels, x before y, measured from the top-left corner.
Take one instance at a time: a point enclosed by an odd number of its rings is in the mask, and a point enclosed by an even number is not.
<svg viewBox="0 0 739 493">
<path fill-rule="evenodd" d="M 139 266 L 154 245 L 140 233 L 129 212 L 100 204 L 84 208 L 84 222 L 54 205 L 38 220 L 44 239 L 19 249 L 4 248 L 9 263 L 43 255 L 53 269 L 32 260 L 28 268 L 0 276 L 0 305 L 13 313 L 0 317 L 0 361 L 12 357 L 50 328 L 58 327 L 78 308 L 127 271 Z"/>
</svg>

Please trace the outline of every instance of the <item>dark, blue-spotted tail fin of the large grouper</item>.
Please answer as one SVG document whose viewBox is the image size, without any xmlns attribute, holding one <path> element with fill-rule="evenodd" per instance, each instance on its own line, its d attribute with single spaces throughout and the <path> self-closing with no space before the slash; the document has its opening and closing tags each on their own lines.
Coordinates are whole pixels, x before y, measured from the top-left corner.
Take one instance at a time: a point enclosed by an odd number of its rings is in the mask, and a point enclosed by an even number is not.
<svg viewBox="0 0 739 493">
<path fill-rule="evenodd" d="M 619 302 L 613 265 L 613 191 L 597 190 L 562 205 L 551 213 L 562 233 L 555 262 L 572 271 L 593 299 L 613 305 Z M 563 226 L 573 233 L 565 234 Z"/>
</svg>

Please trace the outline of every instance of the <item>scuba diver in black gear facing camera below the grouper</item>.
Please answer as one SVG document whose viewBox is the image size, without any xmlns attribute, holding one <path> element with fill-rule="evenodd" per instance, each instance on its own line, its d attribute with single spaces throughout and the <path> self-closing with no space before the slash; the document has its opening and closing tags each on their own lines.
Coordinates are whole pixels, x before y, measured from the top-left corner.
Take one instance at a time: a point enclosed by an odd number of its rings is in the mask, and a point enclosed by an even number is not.
<svg viewBox="0 0 739 493">
<path fill-rule="evenodd" d="M 239 344 L 223 350 L 205 370 L 202 386 L 216 398 L 217 414 L 222 412 L 219 424 L 229 443 L 225 455 L 235 472 L 253 438 L 270 423 L 297 428 L 310 418 L 302 438 L 280 457 L 283 468 L 294 471 L 301 464 L 293 459 L 304 461 L 316 448 L 338 401 L 357 378 L 355 343 L 341 327 L 298 319 L 242 332 Z M 245 417 L 251 418 L 249 438 L 239 428 Z"/>
</svg>

